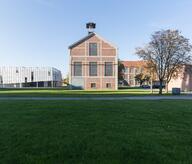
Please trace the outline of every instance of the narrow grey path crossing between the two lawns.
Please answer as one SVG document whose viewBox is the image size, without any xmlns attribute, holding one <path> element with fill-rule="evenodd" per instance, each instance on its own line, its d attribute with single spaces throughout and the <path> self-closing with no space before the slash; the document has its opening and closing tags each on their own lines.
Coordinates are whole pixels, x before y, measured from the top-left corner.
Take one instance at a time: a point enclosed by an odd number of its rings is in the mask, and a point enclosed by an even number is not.
<svg viewBox="0 0 192 164">
<path fill-rule="evenodd" d="M 192 96 L 127 96 L 127 97 L 0 97 L 5 100 L 192 100 Z"/>
</svg>

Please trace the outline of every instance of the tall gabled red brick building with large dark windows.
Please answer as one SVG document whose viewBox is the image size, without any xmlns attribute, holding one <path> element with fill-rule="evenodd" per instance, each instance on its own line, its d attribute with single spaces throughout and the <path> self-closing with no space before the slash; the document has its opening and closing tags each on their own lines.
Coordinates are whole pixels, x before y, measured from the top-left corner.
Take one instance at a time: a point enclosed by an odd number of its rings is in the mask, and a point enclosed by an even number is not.
<svg viewBox="0 0 192 164">
<path fill-rule="evenodd" d="M 69 46 L 69 83 L 74 88 L 118 89 L 117 48 L 94 32 Z"/>
</svg>

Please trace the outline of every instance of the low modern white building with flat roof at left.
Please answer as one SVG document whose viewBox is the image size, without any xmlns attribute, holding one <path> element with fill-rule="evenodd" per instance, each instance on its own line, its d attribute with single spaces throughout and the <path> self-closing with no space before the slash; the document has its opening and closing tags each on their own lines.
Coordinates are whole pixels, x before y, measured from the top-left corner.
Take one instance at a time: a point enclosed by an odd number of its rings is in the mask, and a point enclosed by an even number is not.
<svg viewBox="0 0 192 164">
<path fill-rule="evenodd" d="M 52 67 L 0 67 L 0 88 L 60 87 L 61 81 Z"/>
</svg>

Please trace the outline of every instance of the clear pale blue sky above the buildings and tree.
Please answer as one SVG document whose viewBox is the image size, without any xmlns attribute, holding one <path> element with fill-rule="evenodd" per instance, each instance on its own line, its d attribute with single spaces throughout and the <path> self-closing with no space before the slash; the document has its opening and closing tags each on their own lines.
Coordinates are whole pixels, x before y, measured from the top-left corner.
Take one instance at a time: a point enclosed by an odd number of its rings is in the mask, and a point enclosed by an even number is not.
<svg viewBox="0 0 192 164">
<path fill-rule="evenodd" d="M 68 72 L 68 46 L 97 23 L 98 34 L 135 60 L 160 29 L 192 40 L 192 0 L 0 0 L 0 66 L 54 66 Z"/>
</svg>

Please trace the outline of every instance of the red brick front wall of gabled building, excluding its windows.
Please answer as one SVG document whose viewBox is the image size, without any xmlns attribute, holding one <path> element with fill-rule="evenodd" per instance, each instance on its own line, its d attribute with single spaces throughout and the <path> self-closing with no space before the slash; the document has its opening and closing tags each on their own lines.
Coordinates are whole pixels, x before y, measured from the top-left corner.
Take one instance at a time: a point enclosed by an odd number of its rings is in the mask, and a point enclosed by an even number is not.
<svg viewBox="0 0 192 164">
<path fill-rule="evenodd" d="M 97 43 L 98 45 L 98 56 L 89 56 L 89 43 Z M 91 89 L 91 83 L 96 83 L 96 89 L 108 89 L 106 88 L 106 83 L 111 83 L 111 89 L 116 89 L 117 87 L 117 52 L 116 48 L 111 46 L 109 43 L 102 40 L 100 37 L 93 36 L 90 39 L 84 41 L 83 43 L 72 48 L 70 51 L 71 61 L 70 64 L 74 62 L 81 61 L 82 74 L 84 78 L 84 89 Z M 97 62 L 97 75 L 96 77 L 89 77 L 89 62 Z M 106 77 L 104 76 L 105 62 L 113 62 L 113 73 L 114 76 Z M 71 68 L 71 78 L 73 78 L 73 68 Z"/>
</svg>

